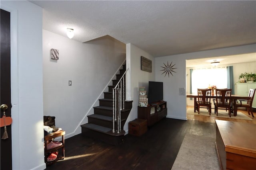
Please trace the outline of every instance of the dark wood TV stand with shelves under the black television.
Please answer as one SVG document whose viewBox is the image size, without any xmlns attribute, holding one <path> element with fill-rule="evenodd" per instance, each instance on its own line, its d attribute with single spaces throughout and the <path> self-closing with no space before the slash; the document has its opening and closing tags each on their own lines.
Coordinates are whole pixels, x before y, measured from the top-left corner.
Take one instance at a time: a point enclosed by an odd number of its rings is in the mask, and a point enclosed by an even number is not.
<svg viewBox="0 0 256 170">
<path fill-rule="evenodd" d="M 165 101 L 159 101 L 148 107 L 138 106 L 138 119 L 148 120 L 148 126 L 154 125 L 167 115 L 167 104 Z"/>
</svg>

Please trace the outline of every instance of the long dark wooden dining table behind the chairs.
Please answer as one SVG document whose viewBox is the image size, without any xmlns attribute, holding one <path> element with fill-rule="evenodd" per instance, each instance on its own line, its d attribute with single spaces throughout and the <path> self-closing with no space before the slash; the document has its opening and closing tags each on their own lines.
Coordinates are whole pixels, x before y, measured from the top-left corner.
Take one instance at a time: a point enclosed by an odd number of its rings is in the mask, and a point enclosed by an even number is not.
<svg viewBox="0 0 256 170">
<path fill-rule="evenodd" d="M 211 95 L 211 96 L 207 96 L 210 99 L 216 99 L 217 96 L 216 94 Z M 196 108 L 196 99 L 198 98 L 198 94 L 187 94 L 187 98 L 194 98 L 194 112 L 196 112 L 197 108 Z M 249 96 L 240 96 L 240 95 L 234 95 L 232 94 L 230 99 L 232 100 L 232 108 L 231 108 L 231 113 L 234 113 L 234 116 L 237 115 L 237 107 L 236 107 L 236 101 L 237 100 L 249 100 L 250 97 Z"/>
</svg>

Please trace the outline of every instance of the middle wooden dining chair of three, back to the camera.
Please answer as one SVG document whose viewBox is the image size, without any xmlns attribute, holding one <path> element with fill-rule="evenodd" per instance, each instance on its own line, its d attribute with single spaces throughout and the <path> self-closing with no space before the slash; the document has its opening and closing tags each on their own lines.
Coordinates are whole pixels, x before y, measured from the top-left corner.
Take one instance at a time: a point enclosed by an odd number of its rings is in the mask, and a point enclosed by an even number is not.
<svg viewBox="0 0 256 170">
<path fill-rule="evenodd" d="M 218 109 L 225 108 L 228 109 L 228 115 L 231 117 L 231 93 L 232 89 L 215 89 L 216 99 L 214 100 L 214 113 L 217 113 Z"/>
</svg>

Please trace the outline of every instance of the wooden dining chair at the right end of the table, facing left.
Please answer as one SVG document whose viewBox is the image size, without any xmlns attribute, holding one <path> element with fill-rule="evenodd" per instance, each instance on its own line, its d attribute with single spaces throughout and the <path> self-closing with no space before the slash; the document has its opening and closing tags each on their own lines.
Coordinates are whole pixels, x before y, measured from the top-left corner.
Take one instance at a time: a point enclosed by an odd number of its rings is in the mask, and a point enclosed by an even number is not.
<svg viewBox="0 0 256 170">
<path fill-rule="evenodd" d="M 256 89 L 250 88 L 249 94 L 248 94 L 248 97 L 250 97 L 250 99 L 249 100 L 239 100 L 240 103 L 236 103 L 236 106 L 234 109 L 236 109 L 236 111 L 237 111 L 237 107 L 246 107 L 248 114 L 251 115 L 250 114 L 250 112 L 251 112 L 252 117 L 254 117 L 253 112 L 252 112 L 252 102 L 253 102 L 255 91 L 256 91 Z"/>
</svg>

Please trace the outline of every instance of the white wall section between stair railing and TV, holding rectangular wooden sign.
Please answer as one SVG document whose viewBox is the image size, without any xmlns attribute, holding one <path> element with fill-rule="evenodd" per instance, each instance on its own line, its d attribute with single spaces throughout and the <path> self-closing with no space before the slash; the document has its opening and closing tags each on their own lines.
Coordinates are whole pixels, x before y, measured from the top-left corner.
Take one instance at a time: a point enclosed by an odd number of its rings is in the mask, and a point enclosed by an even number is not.
<svg viewBox="0 0 256 170">
<path fill-rule="evenodd" d="M 146 57 L 152 61 L 152 72 L 141 70 L 141 56 Z M 138 104 L 139 104 L 139 87 L 144 86 L 148 91 L 148 81 L 155 80 L 155 64 L 154 57 L 149 53 L 139 49 L 135 45 L 126 44 L 126 67 L 130 67 L 126 75 L 126 94 L 127 100 L 133 100 L 132 110 L 127 118 L 124 130 L 128 132 L 128 122 L 138 118 Z"/>
</svg>

